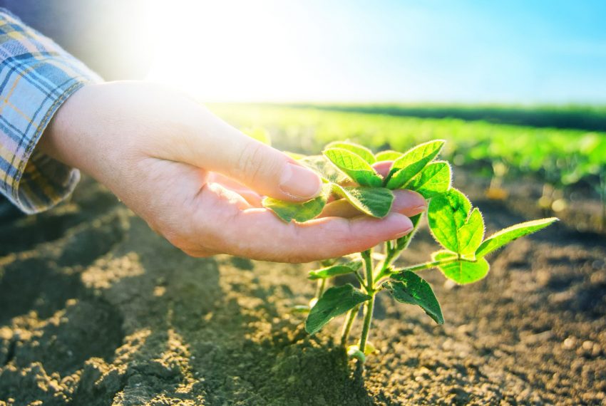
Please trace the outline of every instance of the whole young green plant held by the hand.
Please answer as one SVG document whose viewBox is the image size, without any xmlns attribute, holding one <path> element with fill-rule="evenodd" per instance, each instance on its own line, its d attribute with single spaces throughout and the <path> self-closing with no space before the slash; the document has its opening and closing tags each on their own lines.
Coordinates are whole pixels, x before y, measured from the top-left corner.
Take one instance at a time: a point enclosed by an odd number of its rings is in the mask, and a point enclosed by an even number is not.
<svg viewBox="0 0 606 406">
<path fill-rule="evenodd" d="M 318 281 L 316 297 L 307 308 L 298 306 L 299 311 L 309 311 L 305 322 L 307 333 L 317 333 L 333 318 L 346 313 L 341 331 L 341 344 L 346 346 L 351 326 L 363 307 L 360 339 L 347 347 L 347 353 L 364 362 L 366 356 L 375 351 L 369 343 L 369 333 L 377 293 L 386 291 L 396 301 L 419 306 L 433 321 L 443 324 L 436 295 L 419 272 L 439 269 L 447 279 L 461 285 L 480 281 L 488 274 L 486 256 L 557 220 L 548 218 L 515 224 L 485 238 L 480 210 L 472 207 L 463 193 L 451 187 L 448 162 L 436 160 L 443 145 L 443 140 L 434 140 L 405 153 L 384 151 L 374 155 L 361 145 L 332 142 L 322 155 L 297 157 L 322 177 L 324 188 L 319 197 L 303 203 L 265 198 L 265 207 L 272 209 L 284 222 L 313 219 L 331 199 L 343 200 L 342 204 L 355 207 L 360 215 L 385 217 L 391 209 L 395 189 L 414 190 L 429 200 L 428 226 L 443 249 L 433 252 L 431 261 L 401 268 L 394 266 L 418 229 L 422 216 L 418 214 L 411 218 L 414 231 L 399 239 L 384 241 L 382 254 L 369 249 L 354 256 L 323 261 L 321 269 L 309 272 L 309 279 Z M 386 177 L 379 175 L 372 166 L 379 161 L 393 161 Z M 329 279 L 346 274 L 353 274 L 359 286 L 346 283 L 327 288 Z"/>
</svg>

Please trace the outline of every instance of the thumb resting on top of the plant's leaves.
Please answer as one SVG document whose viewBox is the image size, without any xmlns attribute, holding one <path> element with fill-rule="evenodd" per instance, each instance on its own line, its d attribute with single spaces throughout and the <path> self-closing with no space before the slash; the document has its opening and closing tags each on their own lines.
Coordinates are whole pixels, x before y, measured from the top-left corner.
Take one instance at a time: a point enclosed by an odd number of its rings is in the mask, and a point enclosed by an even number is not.
<svg viewBox="0 0 606 406">
<path fill-rule="evenodd" d="M 188 163 L 235 179 L 275 199 L 304 201 L 317 197 L 322 190 L 322 180 L 309 168 L 210 112 L 204 116 L 202 135 L 194 136 L 189 152 L 185 152 Z"/>
</svg>

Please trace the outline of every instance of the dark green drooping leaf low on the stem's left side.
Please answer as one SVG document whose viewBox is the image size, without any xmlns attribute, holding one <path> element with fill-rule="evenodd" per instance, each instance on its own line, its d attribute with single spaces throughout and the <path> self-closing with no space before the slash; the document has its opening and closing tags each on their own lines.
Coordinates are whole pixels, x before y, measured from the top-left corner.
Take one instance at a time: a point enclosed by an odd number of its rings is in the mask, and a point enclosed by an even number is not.
<svg viewBox="0 0 606 406">
<path fill-rule="evenodd" d="M 346 313 L 360 303 L 370 300 L 370 298 L 371 296 L 354 288 L 349 283 L 328 288 L 315 306 L 312 307 L 312 310 L 309 311 L 309 316 L 305 321 L 305 330 L 309 334 L 315 334 L 332 318 Z"/>
</svg>

